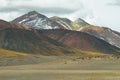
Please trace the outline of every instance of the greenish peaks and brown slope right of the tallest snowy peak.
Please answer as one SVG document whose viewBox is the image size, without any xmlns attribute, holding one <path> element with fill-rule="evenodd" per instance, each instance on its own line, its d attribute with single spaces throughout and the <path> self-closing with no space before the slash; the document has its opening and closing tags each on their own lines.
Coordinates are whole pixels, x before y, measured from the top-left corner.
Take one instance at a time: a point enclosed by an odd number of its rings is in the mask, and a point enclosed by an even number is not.
<svg viewBox="0 0 120 80">
<path fill-rule="evenodd" d="M 94 25 L 88 24 L 87 22 L 85 22 L 80 18 L 76 19 L 75 21 L 70 21 L 67 18 L 60 18 L 60 17 L 52 17 L 50 19 L 58 22 L 64 27 L 66 26 L 66 29 L 68 30 L 75 30 L 75 31 L 88 33 L 90 35 L 93 35 L 97 38 L 100 38 L 110 43 L 111 45 L 114 45 L 120 48 L 120 33 L 117 31 L 111 30 L 110 28 L 94 26 Z"/>
</svg>

